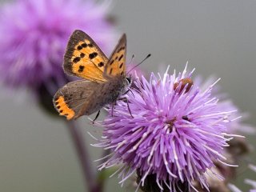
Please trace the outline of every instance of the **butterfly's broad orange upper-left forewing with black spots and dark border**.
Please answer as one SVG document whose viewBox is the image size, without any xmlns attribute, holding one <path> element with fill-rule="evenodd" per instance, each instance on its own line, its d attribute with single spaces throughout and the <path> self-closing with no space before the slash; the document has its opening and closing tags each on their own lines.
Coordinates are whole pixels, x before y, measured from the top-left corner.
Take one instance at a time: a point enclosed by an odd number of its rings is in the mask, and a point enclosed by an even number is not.
<svg viewBox="0 0 256 192">
<path fill-rule="evenodd" d="M 64 55 L 66 74 L 86 78 L 92 82 L 106 82 L 103 78 L 108 58 L 92 38 L 82 30 L 70 36 Z"/>
</svg>

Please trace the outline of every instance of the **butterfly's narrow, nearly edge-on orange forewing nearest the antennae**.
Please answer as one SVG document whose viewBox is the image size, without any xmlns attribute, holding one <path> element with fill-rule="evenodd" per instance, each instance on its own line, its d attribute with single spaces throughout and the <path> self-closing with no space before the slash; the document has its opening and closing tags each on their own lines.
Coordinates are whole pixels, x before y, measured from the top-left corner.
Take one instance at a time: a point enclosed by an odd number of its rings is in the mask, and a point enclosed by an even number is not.
<svg viewBox="0 0 256 192">
<path fill-rule="evenodd" d="M 118 45 L 111 54 L 110 60 L 106 64 L 104 75 L 107 77 L 126 75 L 126 34 L 122 35 Z"/>
</svg>

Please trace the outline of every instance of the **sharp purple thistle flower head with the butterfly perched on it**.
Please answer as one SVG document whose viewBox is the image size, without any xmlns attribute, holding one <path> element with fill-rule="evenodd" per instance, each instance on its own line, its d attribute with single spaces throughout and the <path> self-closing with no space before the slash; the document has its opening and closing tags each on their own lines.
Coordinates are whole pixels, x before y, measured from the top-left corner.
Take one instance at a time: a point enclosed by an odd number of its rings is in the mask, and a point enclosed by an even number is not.
<svg viewBox="0 0 256 192">
<path fill-rule="evenodd" d="M 105 129 L 96 146 L 112 150 L 100 169 L 122 164 L 121 183 L 137 171 L 142 188 L 153 175 L 159 191 L 176 191 L 182 183 L 196 190 L 193 181 L 208 190 L 206 170 L 218 177 L 214 162 L 226 164 L 226 124 L 233 111 L 219 110 L 211 95 L 216 82 L 202 91 L 193 86 L 192 73 L 136 78 L 129 102 L 118 101 L 100 122 Z"/>
</svg>

